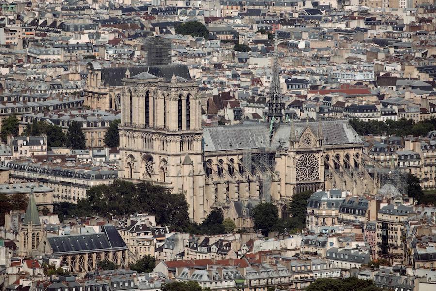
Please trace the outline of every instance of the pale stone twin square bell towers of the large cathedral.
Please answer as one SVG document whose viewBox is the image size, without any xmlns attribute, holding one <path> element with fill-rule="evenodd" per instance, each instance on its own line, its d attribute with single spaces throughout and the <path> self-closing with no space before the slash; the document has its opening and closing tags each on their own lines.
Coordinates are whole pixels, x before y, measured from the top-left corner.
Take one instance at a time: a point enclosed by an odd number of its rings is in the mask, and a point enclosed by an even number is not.
<svg viewBox="0 0 436 291">
<path fill-rule="evenodd" d="M 184 193 L 190 219 L 204 210 L 198 84 L 186 66 L 156 66 L 123 79 L 121 178 Z"/>
</svg>

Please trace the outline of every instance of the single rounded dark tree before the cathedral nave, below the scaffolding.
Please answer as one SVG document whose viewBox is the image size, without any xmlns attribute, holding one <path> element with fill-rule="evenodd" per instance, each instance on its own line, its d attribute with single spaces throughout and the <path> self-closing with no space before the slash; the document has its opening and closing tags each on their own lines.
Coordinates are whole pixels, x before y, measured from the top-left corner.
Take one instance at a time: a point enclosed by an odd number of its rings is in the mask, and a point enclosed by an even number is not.
<svg viewBox="0 0 436 291">
<path fill-rule="evenodd" d="M 270 202 L 259 203 L 253 208 L 253 222 L 254 228 L 267 236 L 279 222 L 277 206 Z"/>
</svg>

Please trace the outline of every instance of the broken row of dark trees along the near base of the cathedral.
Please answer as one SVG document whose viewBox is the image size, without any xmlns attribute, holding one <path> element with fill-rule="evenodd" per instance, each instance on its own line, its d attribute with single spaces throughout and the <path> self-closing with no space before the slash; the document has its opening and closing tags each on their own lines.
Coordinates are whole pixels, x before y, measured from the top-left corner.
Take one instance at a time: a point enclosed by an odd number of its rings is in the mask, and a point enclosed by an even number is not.
<svg viewBox="0 0 436 291">
<path fill-rule="evenodd" d="M 311 192 L 294 195 L 286 206 L 292 216 L 279 219 L 277 206 L 272 203 L 260 203 L 253 209 L 255 230 L 261 230 L 265 236 L 270 231 L 297 232 L 306 226 L 306 205 Z M 222 210 L 213 210 L 201 224 L 191 223 L 188 204 L 183 194 L 173 194 L 161 186 L 142 182 L 134 184 L 124 180 L 115 180 L 110 185 L 98 185 L 86 191 L 86 199 L 77 204 L 62 202 L 55 205 L 54 213 L 63 221 L 76 216 L 130 215 L 150 213 L 155 215 L 156 223 L 167 225 L 172 230 L 192 234 L 216 235 L 231 233 L 235 223 L 224 219 Z"/>
</svg>

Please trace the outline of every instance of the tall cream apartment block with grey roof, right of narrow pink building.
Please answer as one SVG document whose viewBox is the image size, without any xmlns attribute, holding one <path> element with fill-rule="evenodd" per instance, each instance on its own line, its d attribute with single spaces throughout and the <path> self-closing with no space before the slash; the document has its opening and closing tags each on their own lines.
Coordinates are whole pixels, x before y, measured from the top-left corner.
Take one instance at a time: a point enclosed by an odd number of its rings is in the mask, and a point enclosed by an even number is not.
<svg viewBox="0 0 436 291">
<path fill-rule="evenodd" d="M 377 259 L 403 263 L 405 222 L 414 215 L 413 207 L 389 204 L 377 213 Z"/>
</svg>

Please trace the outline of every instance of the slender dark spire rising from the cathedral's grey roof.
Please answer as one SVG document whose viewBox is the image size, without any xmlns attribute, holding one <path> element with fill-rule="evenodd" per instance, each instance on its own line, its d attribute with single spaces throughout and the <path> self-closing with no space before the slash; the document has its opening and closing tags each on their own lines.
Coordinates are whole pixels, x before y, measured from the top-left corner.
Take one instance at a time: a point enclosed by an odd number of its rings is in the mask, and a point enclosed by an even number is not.
<svg viewBox="0 0 436 291">
<path fill-rule="evenodd" d="M 268 102 L 268 121 L 278 123 L 283 121 L 284 104 L 281 101 L 281 88 L 279 76 L 279 60 L 277 52 L 277 32 L 274 38 L 274 62 L 272 70 L 271 86 L 269 88 L 269 102 Z"/>
</svg>

